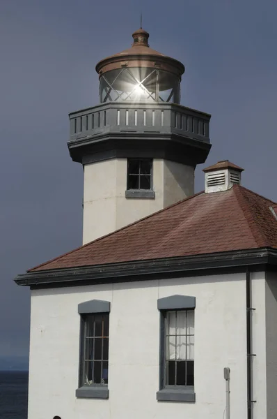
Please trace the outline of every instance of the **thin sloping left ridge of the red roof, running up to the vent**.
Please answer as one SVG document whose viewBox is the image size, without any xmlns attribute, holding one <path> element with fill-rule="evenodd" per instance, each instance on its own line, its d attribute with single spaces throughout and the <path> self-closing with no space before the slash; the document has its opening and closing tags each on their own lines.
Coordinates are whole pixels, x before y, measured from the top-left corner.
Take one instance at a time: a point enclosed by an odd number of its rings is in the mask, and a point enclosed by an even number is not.
<svg viewBox="0 0 277 419">
<path fill-rule="evenodd" d="M 159 210 L 159 211 L 153 212 L 152 214 L 149 214 L 147 216 L 144 216 L 142 219 L 139 219 L 139 220 L 134 221 L 133 223 L 127 224 L 127 226 L 123 226 L 121 228 L 118 228 L 118 230 L 112 231 L 111 233 L 108 233 L 108 234 L 103 235 L 101 237 L 97 237 L 97 239 L 92 240 L 91 242 L 88 242 L 86 244 L 82 244 L 81 246 L 76 247 L 75 249 L 73 249 L 71 251 L 65 252 L 62 255 L 57 256 L 56 258 L 52 258 L 50 260 L 47 260 L 47 262 L 43 262 L 43 263 L 40 263 L 39 265 L 36 265 L 34 267 L 31 267 L 31 269 L 27 270 L 26 272 L 32 272 L 33 270 L 38 269 L 38 267 L 42 267 L 44 265 L 47 265 L 48 263 L 54 262 L 54 260 L 58 260 L 58 259 L 63 258 L 64 256 L 68 256 L 71 253 L 74 253 L 74 251 L 78 251 L 79 249 L 84 249 L 84 247 L 88 247 L 92 243 L 99 242 L 100 240 L 104 240 L 106 237 L 109 237 L 111 235 L 114 235 L 114 234 L 118 233 L 119 231 L 125 230 L 125 228 L 128 228 L 130 226 L 134 226 L 135 224 L 140 223 L 141 221 L 144 221 L 145 219 L 149 219 L 150 217 L 155 216 L 156 214 L 159 214 L 160 212 L 166 212 L 167 210 L 170 210 L 172 207 L 175 207 L 177 205 L 180 205 L 181 203 L 183 203 L 186 200 L 190 200 L 191 198 L 194 198 L 195 196 L 201 195 L 201 193 L 204 193 L 204 191 L 200 191 L 198 193 L 194 193 L 194 195 L 188 196 L 187 198 L 184 198 L 184 199 L 182 199 L 180 201 L 177 201 L 177 203 L 168 205 L 168 207 L 161 208 L 161 210 Z"/>
</svg>

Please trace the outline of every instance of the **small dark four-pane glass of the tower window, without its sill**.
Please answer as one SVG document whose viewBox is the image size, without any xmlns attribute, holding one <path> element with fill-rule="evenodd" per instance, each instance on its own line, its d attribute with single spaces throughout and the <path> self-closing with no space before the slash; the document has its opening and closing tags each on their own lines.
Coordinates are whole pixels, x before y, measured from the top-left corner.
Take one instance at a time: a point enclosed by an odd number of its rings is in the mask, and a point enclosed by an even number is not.
<svg viewBox="0 0 277 419">
<path fill-rule="evenodd" d="M 128 159 L 127 189 L 152 189 L 152 160 Z"/>
</svg>

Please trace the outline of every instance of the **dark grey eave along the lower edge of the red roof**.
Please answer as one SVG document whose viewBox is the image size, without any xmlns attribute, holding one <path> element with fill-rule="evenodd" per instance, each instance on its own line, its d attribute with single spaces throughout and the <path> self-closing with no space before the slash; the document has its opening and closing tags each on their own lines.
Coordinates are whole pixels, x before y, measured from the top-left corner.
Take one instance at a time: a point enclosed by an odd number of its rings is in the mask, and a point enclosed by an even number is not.
<svg viewBox="0 0 277 419">
<path fill-rule="evenodd" d="M 246 249 L 196 256 L 41 270 L 17 275 L 15 283 L 31 288 L 56 288 L 118 281 L 143 281 L 152 279 L 154 275 L 155 277 L 174 277 L 184 273 L 186 276 L 188 274 L 194 276 L 195 272 L 199 272 L 199 275 L 207 275 L 211 270 L 251 265 L 277 265 L 277 249 Z"/>
</svg>

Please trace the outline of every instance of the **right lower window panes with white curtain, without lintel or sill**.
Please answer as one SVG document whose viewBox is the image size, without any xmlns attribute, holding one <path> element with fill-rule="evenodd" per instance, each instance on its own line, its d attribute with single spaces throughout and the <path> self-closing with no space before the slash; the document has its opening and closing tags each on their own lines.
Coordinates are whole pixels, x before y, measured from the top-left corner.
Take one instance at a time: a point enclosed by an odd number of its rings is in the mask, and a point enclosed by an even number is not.
<svg viewBox="0 0 277 419">
<path fill-rule="evenodd" d="M 166 385 L 194 385 L 194 311 L 167 311 L 164 371 Z"/>
</svg>

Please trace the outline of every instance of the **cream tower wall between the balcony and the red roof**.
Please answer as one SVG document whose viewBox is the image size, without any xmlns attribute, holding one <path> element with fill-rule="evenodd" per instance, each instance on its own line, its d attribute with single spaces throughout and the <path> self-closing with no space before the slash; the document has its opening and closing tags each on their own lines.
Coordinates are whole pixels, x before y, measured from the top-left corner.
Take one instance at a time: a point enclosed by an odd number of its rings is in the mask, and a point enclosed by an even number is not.
<svg viewBox="0 0 277 419">
<path fill-rule="evenodd" d="M 126 188 L 127 159 L 84 166 L 83 244 L 193 195 L 194 168 L 154 159 L 155 199 L 125 198 Z"/>
</svg>

